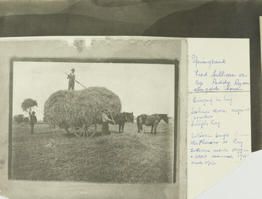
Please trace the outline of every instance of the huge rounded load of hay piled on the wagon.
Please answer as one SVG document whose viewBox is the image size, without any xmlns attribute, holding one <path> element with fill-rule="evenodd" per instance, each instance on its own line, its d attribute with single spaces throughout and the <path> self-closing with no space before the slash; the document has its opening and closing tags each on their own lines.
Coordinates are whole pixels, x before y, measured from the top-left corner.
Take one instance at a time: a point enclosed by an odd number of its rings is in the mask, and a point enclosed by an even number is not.
<svg viewBox="0 0 262 199">
<path fill-rule="evenodd" d="M 103 109 L 121 111 L 119 97 L 104 87 L 89 87 L 79 91 L 59 90 L 44 104 L 44 118 L 60 128 L 81 127 L 102 122 Z"/>
</svg>

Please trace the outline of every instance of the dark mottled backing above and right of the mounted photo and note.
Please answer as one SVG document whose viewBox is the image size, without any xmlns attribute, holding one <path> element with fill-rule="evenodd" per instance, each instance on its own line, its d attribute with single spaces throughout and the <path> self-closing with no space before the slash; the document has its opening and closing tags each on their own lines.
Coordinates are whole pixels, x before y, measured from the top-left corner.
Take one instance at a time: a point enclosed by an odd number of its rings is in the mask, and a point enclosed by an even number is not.
<svg viewBox="0 0 262 199">
<path fill-rule="evenodd" d="M 262 149 L 260 0 L 0 0 L 0 37 L 250 38 L 252 150 Z"/>
</svg>

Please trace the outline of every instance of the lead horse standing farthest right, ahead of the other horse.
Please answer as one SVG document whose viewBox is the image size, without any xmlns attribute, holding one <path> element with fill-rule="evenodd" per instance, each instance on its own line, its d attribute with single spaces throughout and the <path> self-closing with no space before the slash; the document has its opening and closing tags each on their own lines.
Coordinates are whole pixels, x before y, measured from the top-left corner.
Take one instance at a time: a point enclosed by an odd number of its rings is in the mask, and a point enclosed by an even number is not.
<svg viewBox="0 0 262 199">
<path fill-rule="evenodd" d="M 153 129 L 155 127 L 154 134 L 156 135 L 157 126 L 158 126 L 158 123 L 161 120 L 164 120 L 165 123 L 168 124 L 167 114 L 153 114 L 153 115 L 142 114 L 142 115 L 139 115 L 136 119 L 138 133 L 140 133 L 140 130 L 141 131 L 143 130 L 143 125 L 146 125 L 146 126 L 151 126 L 151 132 L 150 132 L 151 134 L 153 134 Z"/>
</svg>

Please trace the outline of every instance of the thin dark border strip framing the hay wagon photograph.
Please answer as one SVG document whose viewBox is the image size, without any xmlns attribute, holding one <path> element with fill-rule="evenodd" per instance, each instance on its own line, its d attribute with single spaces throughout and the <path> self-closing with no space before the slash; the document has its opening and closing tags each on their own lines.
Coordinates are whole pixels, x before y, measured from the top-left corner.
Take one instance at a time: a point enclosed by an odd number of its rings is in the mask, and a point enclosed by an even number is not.
<svg viewBox="0 0 262 199">
<path fill-rule="evenodd" d="M 173 160 L 173 183 L 161 183 L 161 184 L 176 184 L 177 183 L 177 158 L 179 152 L 178 139 L 178 93 L 179 93 L 179 64 L 178 59 L 152 59 L 152 58 L 65 58 L 65 57 L 11 57 L 10 58 L 10 73 L 9 73 L 9 124 L 8 124 L 8 181 L 17 181 L 11 179 L 11 167 L 12 167 L 12 96 L 13 96 L 13 62 L 71 62 L 71 63 L 134 63 L 134 64 L 170 64 L 174 65 L 175 69 L 175 92 L 174 92 L 174 160 Z M 23 180 L 22 180 L 23 181 Z M 37 182 L 37 181 L 36 181 Z M 45 181 L 45 182 L 60 182 L 60 181 Z M 71 182 L 71 181 L 61 181 Z M 78 182 L 77 183 L 97 183 L 99 182 Z M 107 183 L 106 183 L 107 184 Z M 110 183 L 109 183 L 110 184 Z M 117 183 L 128 184 L 128 183 Z M 141 183 L 132 183 L 141 184 Z M 152 184 L 152 183 L 143 183 Z M 159 183 L 154 183 L 159 184 Z"/>
</svg>

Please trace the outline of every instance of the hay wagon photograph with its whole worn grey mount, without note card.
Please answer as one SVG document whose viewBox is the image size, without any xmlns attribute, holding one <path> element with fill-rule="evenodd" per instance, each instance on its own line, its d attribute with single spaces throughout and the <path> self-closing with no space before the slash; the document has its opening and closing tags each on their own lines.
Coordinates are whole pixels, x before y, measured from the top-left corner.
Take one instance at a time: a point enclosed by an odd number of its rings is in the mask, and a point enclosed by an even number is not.
<svg viewBox="0 0 262 199">
<path fill-rule="evenodd" d="M 1 38 L 1 194 L 185 194 L 186 47 L 180 38 Z"/>
</svg>

